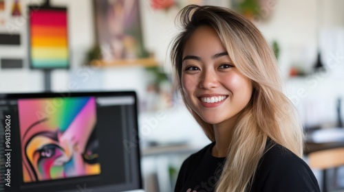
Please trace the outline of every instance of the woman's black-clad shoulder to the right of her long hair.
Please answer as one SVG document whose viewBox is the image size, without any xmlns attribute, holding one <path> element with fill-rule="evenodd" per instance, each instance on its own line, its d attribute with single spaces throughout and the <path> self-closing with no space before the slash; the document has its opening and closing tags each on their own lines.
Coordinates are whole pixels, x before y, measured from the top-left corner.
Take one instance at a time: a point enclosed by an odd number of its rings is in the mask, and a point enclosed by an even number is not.
<svg viewBox="0 0 344 192">
<path fill-rule="evenodd" d="M 273 142 L 268 143 L 259 160 L 252 187 L 264 191 L 319 191 L 319 184 L 308 164 L 286 147 Z"/>
</svg>

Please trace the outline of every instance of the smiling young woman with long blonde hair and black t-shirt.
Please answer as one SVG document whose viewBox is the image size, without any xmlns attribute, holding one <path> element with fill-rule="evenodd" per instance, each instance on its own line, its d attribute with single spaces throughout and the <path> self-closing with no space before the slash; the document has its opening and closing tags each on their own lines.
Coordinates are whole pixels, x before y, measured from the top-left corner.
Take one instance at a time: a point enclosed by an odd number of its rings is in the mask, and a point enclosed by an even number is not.
<svg viewBox="0 0 344 192">
<path fill-rule="evenodd" d="M 320 191 L 275 56 L 244 16 L 189 5 L 171 47 L 186 106 L 213 142 L 187 158 L 175 191 Z"/>
</svg>

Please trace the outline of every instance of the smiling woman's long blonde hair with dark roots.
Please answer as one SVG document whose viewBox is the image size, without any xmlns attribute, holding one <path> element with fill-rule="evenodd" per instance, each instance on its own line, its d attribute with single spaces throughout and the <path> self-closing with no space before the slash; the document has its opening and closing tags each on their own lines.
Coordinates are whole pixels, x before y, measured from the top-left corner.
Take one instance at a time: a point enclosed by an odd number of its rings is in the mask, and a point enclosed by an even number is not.
<svg viewBox="0 0 344 192">
<path fill-rule="evenodd" d="M 188 5 L 179 12 L 178 18 L 182 32 L 172 42 L 171 61 L 179 88 L 182 87 L 184 45 L 201 25 L 215 29 L 235 67 L 252 82 L 252 98 L 239 112 L 226 163 L 217 182 L 217 191 L 249 190 L 268 138 L 297 156 L 303 154 L 301 123 L 291 101 L 283 94 L 275 55 L 259 29 L 230 9 Z M 213 125 L 204 122 L 189 107 L 182 89 L 180 91 L 186 106 L 206 136 L 215 141 Z"/>
</svg>

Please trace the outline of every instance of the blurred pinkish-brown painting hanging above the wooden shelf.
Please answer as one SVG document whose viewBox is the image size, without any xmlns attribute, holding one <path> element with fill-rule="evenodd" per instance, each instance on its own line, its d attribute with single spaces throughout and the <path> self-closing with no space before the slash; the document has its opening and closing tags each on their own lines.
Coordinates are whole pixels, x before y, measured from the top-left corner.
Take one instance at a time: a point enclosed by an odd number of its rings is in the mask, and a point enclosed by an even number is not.
<svg viewBox="0 0 344 192">
<path fill-rule="evenodd" d="M 96 40 L 103 60 L 147 58 L 138 0 L 94 0 Z"/>
</svg>

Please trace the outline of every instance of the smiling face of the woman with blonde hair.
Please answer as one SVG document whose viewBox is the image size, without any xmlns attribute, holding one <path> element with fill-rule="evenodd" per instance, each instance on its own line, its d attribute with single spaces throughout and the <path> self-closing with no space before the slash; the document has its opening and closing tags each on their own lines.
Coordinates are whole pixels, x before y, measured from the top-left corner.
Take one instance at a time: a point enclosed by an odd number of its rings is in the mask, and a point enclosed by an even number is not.
<svg viewBox="0 0 344 192">
<path fill-rule="evenodd" d="M 187 40 L 181 77 L 186 102 L 206 123 L 233 122 L 252 95 L 252 83 L 231 62 L 219 36 L 208 26 L 198 27 Z"/>
</svg>

